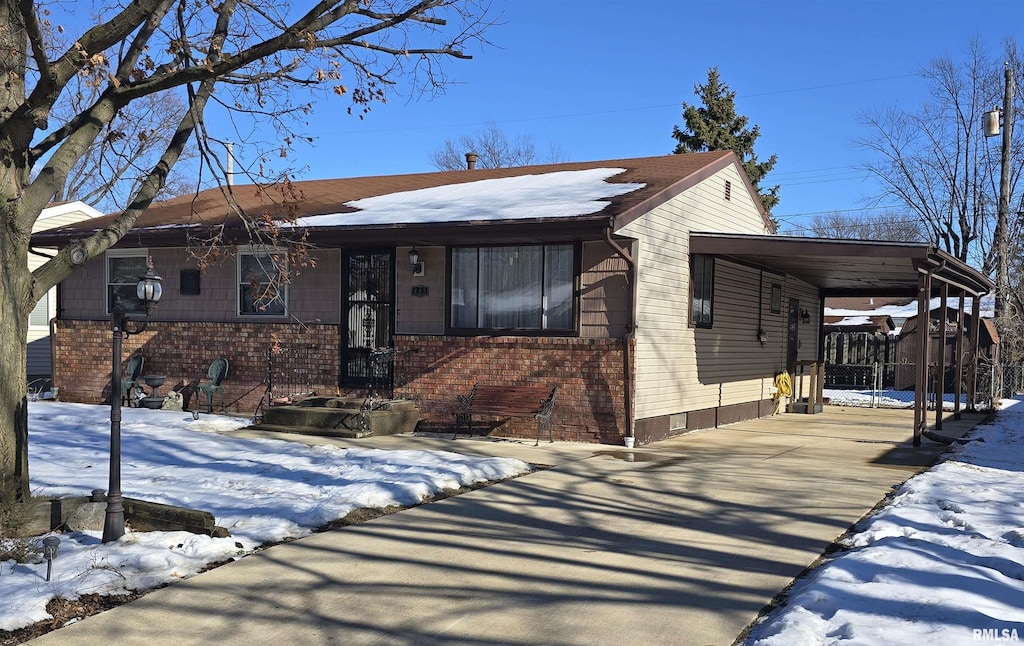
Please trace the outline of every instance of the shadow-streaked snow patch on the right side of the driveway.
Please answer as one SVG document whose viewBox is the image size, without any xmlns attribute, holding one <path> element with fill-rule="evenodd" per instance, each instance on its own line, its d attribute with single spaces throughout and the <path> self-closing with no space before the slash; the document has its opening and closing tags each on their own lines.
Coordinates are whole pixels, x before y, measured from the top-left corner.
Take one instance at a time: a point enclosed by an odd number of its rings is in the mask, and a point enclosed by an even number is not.
<svg viewBox="0 0 1024 646">
<path fill-rule="evenodd" d="M 1024 404 L 970 437 L 798 580 L 744 645 L 1024 640 Z"/>
</svg>

